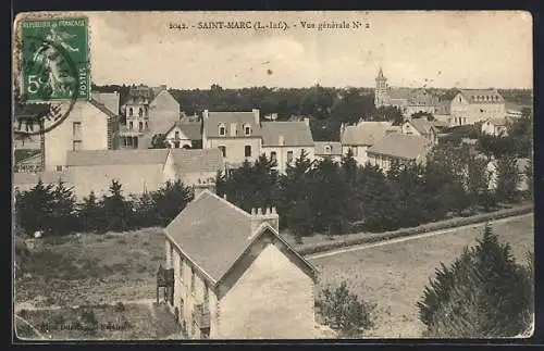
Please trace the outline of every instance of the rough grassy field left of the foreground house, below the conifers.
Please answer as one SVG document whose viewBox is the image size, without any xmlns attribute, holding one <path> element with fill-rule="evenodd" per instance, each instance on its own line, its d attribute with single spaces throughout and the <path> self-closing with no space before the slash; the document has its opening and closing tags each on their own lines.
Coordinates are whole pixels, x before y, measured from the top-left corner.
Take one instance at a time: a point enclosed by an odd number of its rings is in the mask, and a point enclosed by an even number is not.
<svg viewBox="0 0 544 351">
<path fill-rule="evenodd" d="M 15 302 L 73 306 L 154 299 L 163 260 L 159 228 L 35 240 L 15 274 Z"/>
</svg>

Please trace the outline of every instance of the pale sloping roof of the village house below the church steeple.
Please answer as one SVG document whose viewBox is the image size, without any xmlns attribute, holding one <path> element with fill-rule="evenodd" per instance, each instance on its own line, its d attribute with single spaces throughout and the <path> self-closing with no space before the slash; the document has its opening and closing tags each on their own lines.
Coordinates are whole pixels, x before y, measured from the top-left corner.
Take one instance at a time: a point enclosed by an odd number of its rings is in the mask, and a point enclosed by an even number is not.
<svg viewBox="0 0 544 351">
<path fill-rule="evenodd" d="M 430 151 L 429 141 L 420 136 L 406 134 L 390 134 L 376 145 L 369 148 L 367 153 L 383 154 L 404 160 L 423 158 Z"/>
</svg>

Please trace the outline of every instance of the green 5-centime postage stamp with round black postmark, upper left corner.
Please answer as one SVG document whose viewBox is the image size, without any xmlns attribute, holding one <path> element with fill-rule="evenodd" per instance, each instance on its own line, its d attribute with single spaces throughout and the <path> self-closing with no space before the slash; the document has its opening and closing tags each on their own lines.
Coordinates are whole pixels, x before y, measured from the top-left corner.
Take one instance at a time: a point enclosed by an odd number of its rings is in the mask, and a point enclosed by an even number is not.
<svg viewBox="0 0 544 351">
<path fill-rule="evenodd" d="M 67 117 L 77 100 L 89 99 L 88 20 L 22 20 L 18 30 L 14 133 L 47 133 Z"/>
</svg>

